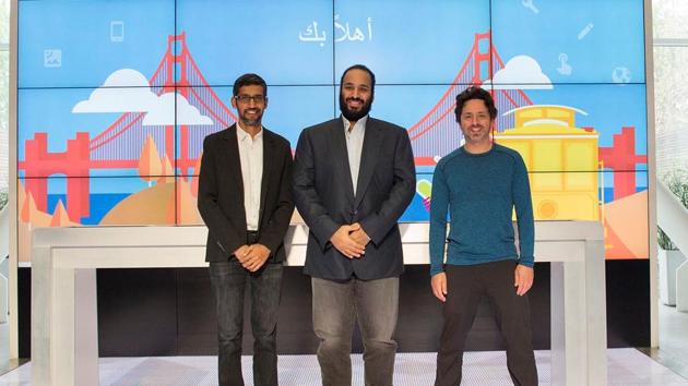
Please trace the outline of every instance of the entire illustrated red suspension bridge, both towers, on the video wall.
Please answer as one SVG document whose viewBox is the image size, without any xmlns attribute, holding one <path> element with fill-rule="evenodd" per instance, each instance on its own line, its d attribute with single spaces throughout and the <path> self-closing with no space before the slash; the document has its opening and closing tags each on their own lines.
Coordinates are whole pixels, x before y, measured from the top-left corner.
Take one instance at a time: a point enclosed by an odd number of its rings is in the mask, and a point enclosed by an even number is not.
<svg viewBox="0 0 688 386">
<path fill-rule="evenodd" d="M 491 46 L 490 33 L 475 34 L 473 47 L 451 85 L 430 111 L 408 129 L 416 165 L 432 166 L 437 157 L 442 157 L 459 146 L 462 134 L 453 113 L 456 95 L 470 85 L 483 84 L 503 67 L 503 61 Z M 175 135 L 175 125 L 144 125 L 146 112 L 126 112 L 93 138 L 87 132 L 78 132 L 73 140 L 68 140 L 67 150 L 61 153 L 48 152 L 48 133 L 35 133 L 32 140 L 25 142 L 25 159 L 17 166 L 20 170 L 24 170 L 25 190 L 34 198 L 38 210 L 47 212 L 48 206 L 45 177 L 63 174 L 68 177 L 66 204 L 69 218 L 79 221 L 80 218 L 87 217 L 90 171 L 137 169 L 149 135 L 157 144 L 161 154 L 168 160 L 174 160 L 176 174 L 189 180 L 193 178 L 193 167 L 198 165 L 203 138 L 229 126 L 236 122 L 237 117 L 203 77 L 187 47 L 186 33 L 168 37 L 167 50 L 150 79 L 150 84 L 158 96 L 175 92 L 183 95 L 201 114 L 210 117 L 213 124 L 193 128 L 179 125 L 178 135 Z M 522 89 L 495 89 L 491 93 L 498 111 L 533 104 Z M 511 126 L 513 114 L 498 118 L 498 131 Z M 627 134 L 629 133 L 625 132 Z M 633 135 L 632 131 L 630 135 Z M 628 146 L 625 146 L 622 149 L 609 148 L 601 152 L 601 155 L 617 159 L 628 152 Z M 634 156 L 634 150 L 630 152 Z M 647 156 L 644 159 L 647 162 Z M 634 174 L 624 174 L 628 176 L 619 176 L 624 180 L 621 185 L 634 186 Z M 70 177 L 81 178 L 69 179 Z M 616 182 L 615 178 L 615 184 Z"/>
</svg>

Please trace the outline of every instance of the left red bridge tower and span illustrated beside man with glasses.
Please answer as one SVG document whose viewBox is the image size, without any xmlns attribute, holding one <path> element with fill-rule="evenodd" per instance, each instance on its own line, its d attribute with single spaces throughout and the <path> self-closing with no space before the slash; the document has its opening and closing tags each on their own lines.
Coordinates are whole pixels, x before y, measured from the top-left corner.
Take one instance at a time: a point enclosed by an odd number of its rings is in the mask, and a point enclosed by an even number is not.
<svg viewBox="0 0 688 386">
<path fill-rule="evenodd" d="M 179 93 L 199 112 L 213 120 L 212 125 L 143 125 L 146 112 L 124 112 L 102 133 L 91 138 L 87 132 L 78 132 L 68 140 L 67 150 L 48 152 L 48 133 L 35 133 L 25 143 L 25 159 L 19 162 L 26 177 L 25 190 L 34 198 L 38 210 L 47 212 L 47 179 L 63 174 L 67 180 L 67 213 L 78 220 L 90 213 L 88 179 L 92 169 L 137 169 L 145 138 L 151 135 L 158 150 L 174 160 L 180 176 L 193 178 L 191 169 L 203 147 L 203 138 L 234 122 L 236 116 L 215 94 L 203 77 L 186 45 L 186 33 L 169 36 L 167 50 L 150 79 L 154 93 Z M 177 140 L 176 140 L 177 138 Z M 69 179 L 69 177 L 82 177 Z"/>
</svg>

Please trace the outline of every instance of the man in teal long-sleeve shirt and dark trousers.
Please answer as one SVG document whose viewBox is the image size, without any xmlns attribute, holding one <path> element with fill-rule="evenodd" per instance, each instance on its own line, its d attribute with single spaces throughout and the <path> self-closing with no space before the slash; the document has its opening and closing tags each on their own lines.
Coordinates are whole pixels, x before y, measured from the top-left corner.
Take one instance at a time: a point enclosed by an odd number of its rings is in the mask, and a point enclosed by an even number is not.
<svg viewBox="0 0 688 386">
<path fill-rule="evenodd" d="M 431 287 L 443 302 L 444 316 L 435 384 L 461 383 L 466 336 L 482 297 L 487 295 L 505 338 L 511 379 L 514 385 L 537 385 L 525 295 L 534 276 L 527 171 L 517 152 L 491 141 L 497 109 L 488 92 L 465 89 L 456 96 L 455 114 L 465 144 L 437 164 L 430 203 Z M 514 246 L 513 208 L 520 254 Z"/>
</svg>

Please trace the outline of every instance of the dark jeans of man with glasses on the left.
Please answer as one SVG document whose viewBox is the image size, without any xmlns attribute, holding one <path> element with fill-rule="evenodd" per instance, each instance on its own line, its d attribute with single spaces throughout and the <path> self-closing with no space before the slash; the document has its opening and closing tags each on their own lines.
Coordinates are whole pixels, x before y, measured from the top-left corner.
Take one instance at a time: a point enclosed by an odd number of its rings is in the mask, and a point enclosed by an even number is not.
<svg viewBox="0 0 688 386">
<path fill-rule="evenodd" d="M 277 309 L 282 287 L 281 263 L 265 264 L 257 273 L 244 269 L 236 258 L 211 263 L 210 277 L 217 311 L 217 370 L 221 386 L 244 385 L 241 376 L 241 336 L 244 331 L 244 291 L 251 291 L 253 331 L 253 383 L 277 385 Z"/>
</svg>

